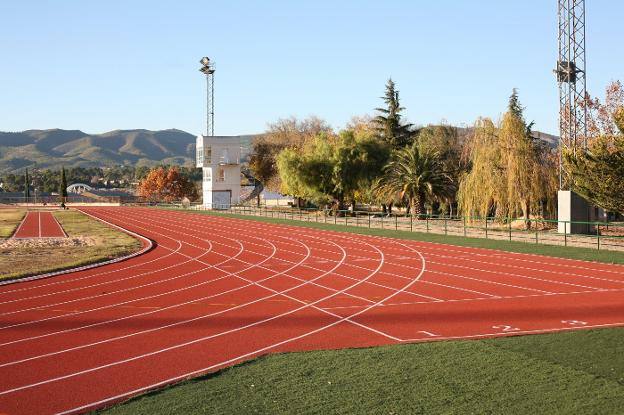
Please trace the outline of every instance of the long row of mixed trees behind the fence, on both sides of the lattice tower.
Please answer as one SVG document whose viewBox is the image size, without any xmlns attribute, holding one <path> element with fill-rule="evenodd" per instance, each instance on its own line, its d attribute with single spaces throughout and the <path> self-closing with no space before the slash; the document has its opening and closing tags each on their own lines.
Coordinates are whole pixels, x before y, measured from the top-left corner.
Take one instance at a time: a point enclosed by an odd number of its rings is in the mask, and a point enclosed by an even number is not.
<svg viewBox="0 0 624 415">
<path fill-rule="evenodd" d="M 563 155 L 573 190 L 620 213 L 623 95 L 615 83 L 605 104 L 588 99 L 589 151 Z M 525 218 L 527 227 L 530 218 L 556 216 L 558 149 L 533 138 L 516 90 L 500 120 L 479 118 L 461 131 L 406 122 L 391 79 L 382 99 L 374 117 L 337 132 L 316 117 L 269 124 L 253 143 L 250 170 L 269 190 L 334 210 L 399 206 L 413 215 Z"/>
</svg>

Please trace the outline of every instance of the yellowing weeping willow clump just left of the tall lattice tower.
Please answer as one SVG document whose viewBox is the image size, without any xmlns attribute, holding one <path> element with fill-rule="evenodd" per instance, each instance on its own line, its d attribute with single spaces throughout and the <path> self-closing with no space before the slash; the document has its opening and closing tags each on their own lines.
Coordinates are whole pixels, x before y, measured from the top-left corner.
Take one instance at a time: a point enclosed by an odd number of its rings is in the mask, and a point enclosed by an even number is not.
<svg viewBox="0 0 624 415">
<path fill-rule="evenodd" d="M 554 152 L 533 139 L 528 127 L 515 91 L 498 126 L 477 122 L 468 144 L 471 170 L 462 177 L 458 194 L 464 215 L 523 217 L 530 227 L 532 216 L 554 212 Z"/>
</svg>

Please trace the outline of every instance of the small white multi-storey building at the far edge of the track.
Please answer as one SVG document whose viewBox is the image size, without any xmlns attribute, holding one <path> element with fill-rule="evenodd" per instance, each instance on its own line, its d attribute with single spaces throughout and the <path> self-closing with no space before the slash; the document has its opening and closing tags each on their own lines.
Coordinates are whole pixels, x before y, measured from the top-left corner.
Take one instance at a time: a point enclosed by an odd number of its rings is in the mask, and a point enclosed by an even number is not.
<svg viewBox="0 0 624 415">
<path fill-rule="evenodd" d="M 204 136 L 196 140 L 197 167 L 203 171 L 203 204 L 227 209 L 240 202 L 241 140 L 238 136 Z"/>
</svg>

